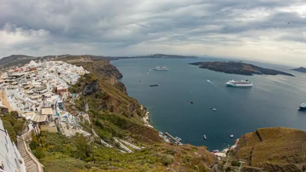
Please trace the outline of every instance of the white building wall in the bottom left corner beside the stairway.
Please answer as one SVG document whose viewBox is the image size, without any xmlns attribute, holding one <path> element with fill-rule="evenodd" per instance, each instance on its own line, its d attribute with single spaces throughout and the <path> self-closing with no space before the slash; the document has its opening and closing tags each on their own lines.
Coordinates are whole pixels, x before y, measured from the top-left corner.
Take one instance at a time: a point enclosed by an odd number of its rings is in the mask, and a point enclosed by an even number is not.
<svg viewBox="0 0 306 172">
<path fill-rule="evenodd" d="M 0 129 L 5 131 L 1 119 Z M 0 131 L 0 171 L 26 171 L 24 159 L 20 155 L 16 145 L 11 141 L 10 136 L 3 131 Z"/>
</svg>

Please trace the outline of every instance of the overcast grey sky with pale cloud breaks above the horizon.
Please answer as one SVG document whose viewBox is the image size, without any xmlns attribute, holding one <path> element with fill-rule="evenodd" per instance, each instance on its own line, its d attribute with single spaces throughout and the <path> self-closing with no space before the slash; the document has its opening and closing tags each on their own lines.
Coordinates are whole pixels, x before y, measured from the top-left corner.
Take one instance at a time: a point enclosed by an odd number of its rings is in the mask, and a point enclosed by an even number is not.
<svg viewBox="0 0 306 172">
<path fill-rule="evenodd" d="M 0 3 L 0 57 L 165 53 L 306 63 L 306 1 Z"/>
</svg>

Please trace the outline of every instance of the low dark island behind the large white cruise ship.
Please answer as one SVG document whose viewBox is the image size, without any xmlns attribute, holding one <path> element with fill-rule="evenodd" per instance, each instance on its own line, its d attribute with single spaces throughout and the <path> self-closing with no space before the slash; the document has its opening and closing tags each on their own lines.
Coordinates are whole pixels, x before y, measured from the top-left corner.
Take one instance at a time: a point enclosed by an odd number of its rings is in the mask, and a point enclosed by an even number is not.
<svg viewBox="0 0 306 172">
<path fill-rule="evenodd" d="M 282 72 L 279 70 L 263 68 L 263 67 L 255 66 L 253 64 L 236 62 L 236 61 L 228 61 L 228 62 L 209 61 L 209 62 L 196 62 L 196 63 L 189 63 L 189 64 L 200 66 L 200 68 L 205 68 L 205 69 L 224 72 L 224 73 L 234 73 L 234 74 L 243 74 L 243 75 L 283 74 L 283 75 L 288 75 L 288 76 L 294 76 L 290 73 Z"/>
</svg>

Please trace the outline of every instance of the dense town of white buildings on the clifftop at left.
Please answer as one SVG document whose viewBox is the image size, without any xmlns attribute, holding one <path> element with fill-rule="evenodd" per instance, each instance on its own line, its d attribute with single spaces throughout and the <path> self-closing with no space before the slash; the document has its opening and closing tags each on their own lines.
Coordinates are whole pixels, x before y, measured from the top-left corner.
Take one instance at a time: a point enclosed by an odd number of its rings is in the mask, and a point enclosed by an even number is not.
<svg viewBox="0 0 306 172">
<path fill-rule="evenodd" d="M 10 69 L 0 76 L 0 106 L 29 120 L 29 130 L 38 126 L 39 130 L 61 132 L 68 137 L 76 132 L 90 135 L 81 129 L 80 118 L 66 112 L 62 104 L 66 98 L 78 96 L 70 94 L 68 88 L 85 73 L 89 72 L 82 66 L 62 61 L 31 61 Z"/>
</svg>

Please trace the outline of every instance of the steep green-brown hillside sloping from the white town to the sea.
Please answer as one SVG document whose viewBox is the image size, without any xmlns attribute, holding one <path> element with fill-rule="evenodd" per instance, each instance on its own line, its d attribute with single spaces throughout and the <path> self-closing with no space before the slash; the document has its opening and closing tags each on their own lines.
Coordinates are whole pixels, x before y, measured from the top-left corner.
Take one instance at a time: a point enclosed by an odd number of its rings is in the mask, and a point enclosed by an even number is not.
<svg viewBox="0 0 306 172">
<path fill-rule="evenodd" d="M 78 60 L 79 59 L 79 60 Z M 65 59 L 61 59 L 65 60 Z M 71 93 L 79 93 L 80 97 L 74 101 L 64 102 L 65 108 L 72 114 L 86 111 L 85 102 L 88 104 L 90 117 L 89 123 L 83 124 L 83 128 L 91 132 L 93 128 L 98 136 L 106 142 L 116 146 L 114 137 L 128 140 L 139 147 L 146 148 L 134 153 L 121 153 L 116 149 L 105 148 L 95 139 L 93 152 L 96 164 L 86 150 L 78 157 L 78 150 L 82 136 L 72 139 L 64 139 L 62 136 L 44 133 L 43 140 L 46 145 L 60 149 L 60 152 L 47 153 L 39 147 L 33 146 L 37 156 L 40 156 L 46 171 L 61 171 L 64 163 L 69 163 L 70 171 L 211 171 L 215 164 L 216 156 L 207 151 L 205 146 L 175 145 L 162 141 L 156 129 L 144 126 L 141 117 L 145 110 L 133 98 L 126 94 L 123 83 L 117 82 L 122 77 L 121 73 L 104 60 L 86 59 L 83 57 L 69 57 L 72 64 L 80 65 L 89 70 L 79 81 L 69 88 Z M 119 84 L 118 84 L 119 83 Z M 58 137 L 55 141 L 54 137 Z M 69 146 L 67 146 L 69 145 Z M 69 151 L 67 151 L 69 147 Z M 38 150 L 36 150 L 38 149 Z M 71 150 L 70 150 L 71 149 Z M 87 152 L 87 153 L 86 153 Z M 59 160 L 60 159 L 60 160 Z M 57 165 L 54 165 L 57 164 Z"/>
</svg>

